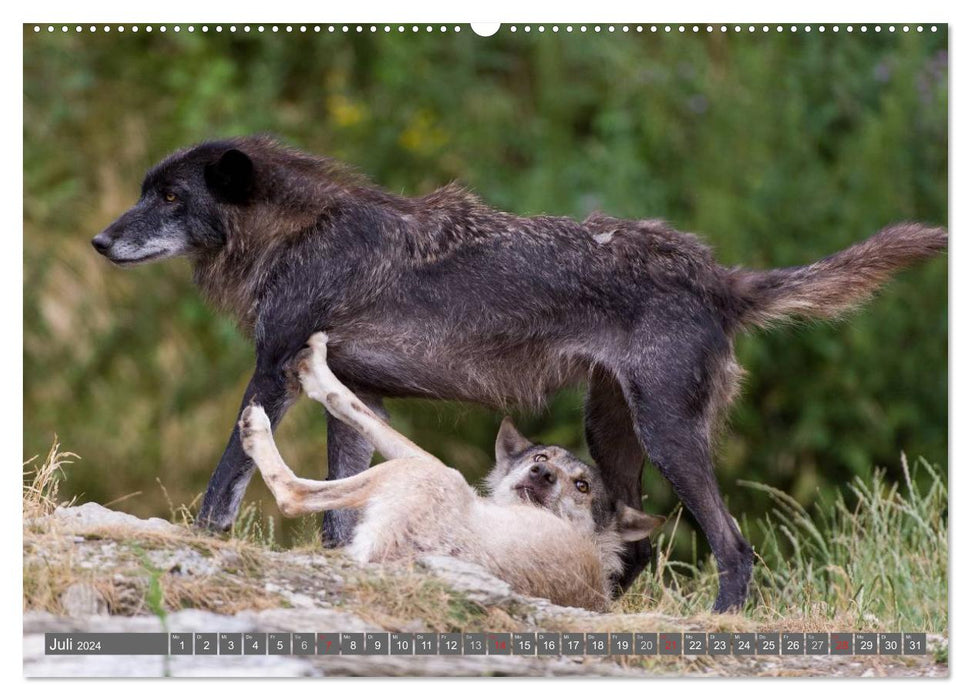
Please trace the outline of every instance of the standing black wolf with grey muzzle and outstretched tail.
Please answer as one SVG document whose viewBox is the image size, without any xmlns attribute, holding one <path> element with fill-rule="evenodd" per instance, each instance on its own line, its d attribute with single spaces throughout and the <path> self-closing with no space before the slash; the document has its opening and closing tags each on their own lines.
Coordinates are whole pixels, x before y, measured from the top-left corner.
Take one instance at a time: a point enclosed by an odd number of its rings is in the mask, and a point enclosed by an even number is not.
<svg viewBox="0 0 971 700">
<path fill-rule="evenodd" d="M 727 269 L 662 221 L 521 217 L 455 186 L 402 197 L 250 137 L 163 160 L 93 244 L 119 264 L 193 259 L 203 294 L 256 345 L 242 407 L 257 400 L 274 426 L 296 396 L 288 362 L 317 331 L 335 374 L 379 413 L 396 396 L 537 406 L 588 382 L 586 438 L 605 482 L 640 507 L 650 457 L 711 545 L 724 611 L 745 602 L 753 556 L 711 461 L 741 374 L 734 336 L 833 317 L 944 249 L 947 233 L 897 224 L 805 267 Z M 371 452 L 328 420 L 329 478 L 365 469 Z M 252 472 L 234 430 L 200 521 L 228 528 Z M 325 519 L 333 543 L 352 527 L 348 512 Z M 632 543 L 619 585 L 649 559 L 646 541 Z"/>
</svg>

